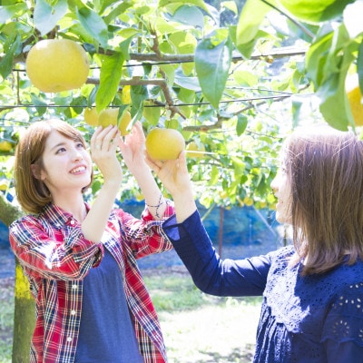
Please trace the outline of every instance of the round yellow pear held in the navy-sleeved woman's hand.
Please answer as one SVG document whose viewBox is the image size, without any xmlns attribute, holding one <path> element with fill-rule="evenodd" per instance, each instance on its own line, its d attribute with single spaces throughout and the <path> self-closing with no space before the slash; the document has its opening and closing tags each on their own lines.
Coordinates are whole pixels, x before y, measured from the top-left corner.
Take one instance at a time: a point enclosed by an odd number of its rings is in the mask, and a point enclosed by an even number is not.
<svg viewBox="0 0 363 363">
<path fill-rule="evenodd" d="M 146 136 L 146 151 L 153 160 L 175 160 L 185 149 L 182 133 L 155 127 Z"/>
</svg>

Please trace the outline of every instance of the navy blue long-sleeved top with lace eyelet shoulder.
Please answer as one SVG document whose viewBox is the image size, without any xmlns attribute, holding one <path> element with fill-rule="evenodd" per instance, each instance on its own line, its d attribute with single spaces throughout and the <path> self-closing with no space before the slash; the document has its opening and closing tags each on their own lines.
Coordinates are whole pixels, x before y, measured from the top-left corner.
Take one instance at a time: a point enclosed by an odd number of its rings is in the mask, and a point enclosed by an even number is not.
<svg viewBox="0 0 363 363">
<path fill-rule="evenodd" d="M 302 277 L 300 264 L 289 267 L 292 246 L 220 260 L 197 211 L 181 224 L 172 217 L 163 229 L 202 291 L 263 296 L 254 362 L 363 362 L 363 261 Z"/>
</svg>

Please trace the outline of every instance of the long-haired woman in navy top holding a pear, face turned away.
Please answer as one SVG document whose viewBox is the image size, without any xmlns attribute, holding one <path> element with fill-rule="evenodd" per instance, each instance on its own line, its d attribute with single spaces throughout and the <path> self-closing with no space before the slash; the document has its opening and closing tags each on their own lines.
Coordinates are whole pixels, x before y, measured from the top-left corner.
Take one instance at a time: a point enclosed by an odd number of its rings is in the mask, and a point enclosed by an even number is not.
<svg viewBox="0 0 363 363">
<path fill-rule="evenodd" d="M 363 142 L 310 127 L 289 136 L 271 182 L 292 244 L 221 260 L 196 209 L 184 152 L 149 165 L 172 193 L 163 229 L 196 286 L 216 296 L 263 296 L 254 362 L 363 362 Z M 243 327 L 241 327 L 243 329 Z"/>
</svg>

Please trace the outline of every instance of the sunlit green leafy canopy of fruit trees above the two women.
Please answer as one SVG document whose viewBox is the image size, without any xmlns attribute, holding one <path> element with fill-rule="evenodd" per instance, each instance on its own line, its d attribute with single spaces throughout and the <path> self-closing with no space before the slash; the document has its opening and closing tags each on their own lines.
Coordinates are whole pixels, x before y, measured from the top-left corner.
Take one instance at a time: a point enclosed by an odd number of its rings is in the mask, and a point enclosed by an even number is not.
<svg viewBox="0 0 363 363">
<path fill-rule="evenodd" d="M 272 206 L 267 191 L 286 132 L 322 118 L 340 130 L 355 128 L 344 83 L 351 72 L 363 79 L 363 29 L 353 16 L 362 6 L 361 0 L 3 1 L 1 188 L 14 194 L 8 161 L 29 123 L 59 117 L 89 138 L 84 108 L 111 106 L 129 109 L 145 132 L 174 128 L 187 143 L 204 145 L 204 158 L 190 158 L 189 168 L 207 207 L 250 198 L 257 207 Z M 51 38 L 74 40 L 89 54 L 91 72 L 80 89 L 43 93 L 29 81 L 26 55 Z M 131 103 L 124 104 L 124 93 Z M 99 185 L 96 178 L 93 191 Z M 137 192 L 126 178 L 120 199 Z"/>
</svg>

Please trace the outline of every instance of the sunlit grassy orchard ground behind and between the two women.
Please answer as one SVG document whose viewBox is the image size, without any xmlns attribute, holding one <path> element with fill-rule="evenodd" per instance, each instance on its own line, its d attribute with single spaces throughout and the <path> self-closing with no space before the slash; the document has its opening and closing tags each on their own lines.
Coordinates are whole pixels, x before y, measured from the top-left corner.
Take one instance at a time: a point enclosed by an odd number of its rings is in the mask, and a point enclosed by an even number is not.
<svg viewBox="0 0 363 363">
<path fill-rule="evenodd" d="M 5 250 L 0 251 L 0 363 L 10 363 L 14 262 L 9 255 L 5 257 Z M 142 269 L 142 274 L 159 314 L 169 363 L 251 361 L 260 298 L 231 299 L 203 294 L 194 287 L 182 265 Z"/>
</svg>

